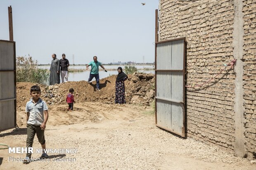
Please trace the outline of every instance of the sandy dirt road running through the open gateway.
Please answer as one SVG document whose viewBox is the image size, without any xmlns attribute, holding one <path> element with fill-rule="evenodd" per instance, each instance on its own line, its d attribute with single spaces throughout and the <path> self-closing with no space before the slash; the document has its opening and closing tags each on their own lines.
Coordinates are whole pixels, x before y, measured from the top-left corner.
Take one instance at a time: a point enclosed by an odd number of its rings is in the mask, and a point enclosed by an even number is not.
<svg viewBox="0 0 256 170">
<path fill-rule="evenodd" d="M 65 108 L 49 106 L 46 146 L 77 149 L 76 153 L 52 153 L 45 161 L 23 164 L 25 154 L 9 154 L 4 149 L 0 150 L 0 169 L 256 170 L 256 165 L 244 158 L 157 128 L 150 106 L 81 102 L 73 112 Z M 0 143 L 25 147 L 25 119 L 24 111 L 19 111 L 20 129 L 1 132 Z M 33 147 L 40 148 L 36 137 Z M 38 160 L 40 154 L 32 156 Z"/>
</svg>

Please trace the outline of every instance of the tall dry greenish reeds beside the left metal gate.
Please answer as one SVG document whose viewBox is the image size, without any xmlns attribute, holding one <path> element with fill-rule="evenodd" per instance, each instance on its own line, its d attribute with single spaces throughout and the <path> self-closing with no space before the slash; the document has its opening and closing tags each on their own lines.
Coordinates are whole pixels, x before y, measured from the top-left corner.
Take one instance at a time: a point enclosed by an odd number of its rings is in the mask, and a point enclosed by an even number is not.
<svg viewBox="0 0 256 170">
<path fill-rule="evenodd" d="M 16 80 L 17 82 L 32 82 L 39 84 L 49 84 L 50 71 L 36 68 L 37 61 L 33 61 L 32 56 L 28 58 L 21 56 L 16 58 Z"/>
</svg>

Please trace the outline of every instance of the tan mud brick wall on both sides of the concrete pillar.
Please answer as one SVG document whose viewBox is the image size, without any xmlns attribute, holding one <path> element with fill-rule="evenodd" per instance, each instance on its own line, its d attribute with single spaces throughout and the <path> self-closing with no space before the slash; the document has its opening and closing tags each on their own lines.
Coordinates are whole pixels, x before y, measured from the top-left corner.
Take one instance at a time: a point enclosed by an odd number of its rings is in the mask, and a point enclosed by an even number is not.
<svg viewBox="0 0 256 170">
<path fill-rule="evenodd" d="M 244 150 L 240 156 L 252 158 L 256 148 L 255 0 L 241 2 L 242 14 L 235 11 L 237 3 L 240 2 L 160 0 L 159 41 L 186 38 L 187 86 L 202 84 L 233 59 L 239 61 L 237 65 L 242 70 L 228 66 L 214 81 L 199 88 L 186 88 L 186 133 L 228 151 L 236 150 L 236 140 L 242 134 L 238 139 Z M 244 41 L 239 40 L 241 30 L 236 30 L 237 24 L 244 24 Z M 243 58 L 236 57 L 237 52 Z M 241 79 L 237 78 L 238 72 Z M 242 98 L 237 97 L 240 84 Z M 242 114 L 236 108 L 242 108 Z M 237 120 L 240 115 L 241 122 Z"/>
</svg>

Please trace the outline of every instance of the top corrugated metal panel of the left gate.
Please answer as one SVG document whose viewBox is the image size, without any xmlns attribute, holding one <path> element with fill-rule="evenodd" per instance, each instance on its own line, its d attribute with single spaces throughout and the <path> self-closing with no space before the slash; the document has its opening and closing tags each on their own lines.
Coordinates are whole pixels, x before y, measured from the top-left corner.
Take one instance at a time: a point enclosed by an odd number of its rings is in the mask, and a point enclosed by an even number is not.
<svg viewBox="0 0 256 170">
<path fill-rule="evenodd" d="M 0 70 L 14 70 L 14 43 L 0 41 Z M 2 60 L 4 59 L 4 60 Z"/>
</svg>

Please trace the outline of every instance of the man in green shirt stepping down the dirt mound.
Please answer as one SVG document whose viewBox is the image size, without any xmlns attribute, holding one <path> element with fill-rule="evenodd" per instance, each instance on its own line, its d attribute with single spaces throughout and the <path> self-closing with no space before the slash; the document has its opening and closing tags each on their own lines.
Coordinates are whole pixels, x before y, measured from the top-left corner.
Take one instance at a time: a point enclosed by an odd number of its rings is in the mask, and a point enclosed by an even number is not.
<svg viewBox="0 0 256 170">
<path fill-rule="evenodd" d="M 106 69 L 104 68 L 104 66 L 97 61 L 97 56 L 93 57 L 93 61 L 91 61 L 88 65 L 86 65 L 86 70 L 88 70 L 88 67 L 92 66 L 91 71 L 90 71 L 90 76 L 89 79 L 87 81 L 87 83 L 90 83 L 90 81 L 93 79 L 93 77 L 95 77 L 96 79 L 96 90 L 100 91 L 100 77 L 99 77 L 99 66 L 101 68 L 103 68 L 105 71 Z"/>
</svg>

